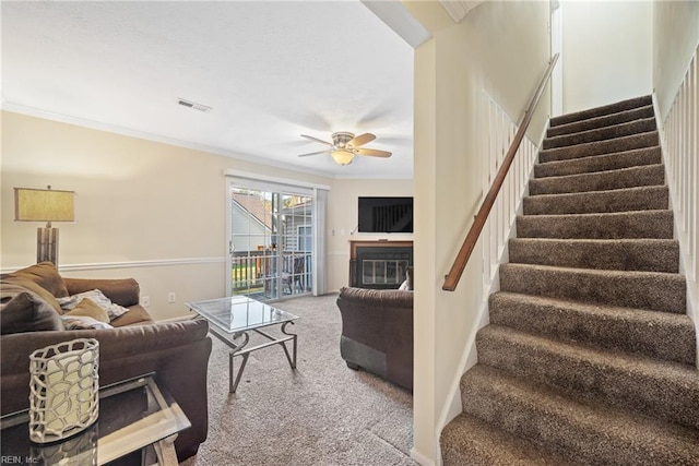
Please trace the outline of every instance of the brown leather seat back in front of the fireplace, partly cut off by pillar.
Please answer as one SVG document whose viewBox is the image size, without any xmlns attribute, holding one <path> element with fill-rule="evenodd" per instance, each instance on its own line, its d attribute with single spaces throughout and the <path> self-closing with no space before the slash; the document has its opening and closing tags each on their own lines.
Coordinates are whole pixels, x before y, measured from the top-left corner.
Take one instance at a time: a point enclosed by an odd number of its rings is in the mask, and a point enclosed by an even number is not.
<svg viewBox="0 0 699 466">
<path fill-rule="evenodd" d="M 342 288 L 340 354 L 364 369 L 413 390 L 413 291 Z"/>
</svg>

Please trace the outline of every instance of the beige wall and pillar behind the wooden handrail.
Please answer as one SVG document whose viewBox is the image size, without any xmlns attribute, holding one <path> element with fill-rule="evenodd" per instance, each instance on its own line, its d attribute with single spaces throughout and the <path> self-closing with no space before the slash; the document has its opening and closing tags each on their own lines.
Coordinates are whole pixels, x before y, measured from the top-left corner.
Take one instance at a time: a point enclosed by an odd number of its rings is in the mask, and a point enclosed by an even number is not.
<svg viewBox="0 0 699 466">
<path fill-rule="evenodd" d="M 441 290 L 482 195 L 476 101 L 488 91 L 520 119 L 549 61 L 547 2 L 485 2 L 458 25 L 435 2 L 404 2 L 434 38 L 415 56 L 415 392 L 413 456 L 438 463 L 442 423 L 484 302 L 478 248 L 457 291 Z M 440 17 L 441 16 L 441 17 Z M 530 135 L 542 134 L 548 98 Z M 424 284 L 424 285 L 423 285 Z M 454 404 L 454 399 L 457 403 Z"/>
</svg>

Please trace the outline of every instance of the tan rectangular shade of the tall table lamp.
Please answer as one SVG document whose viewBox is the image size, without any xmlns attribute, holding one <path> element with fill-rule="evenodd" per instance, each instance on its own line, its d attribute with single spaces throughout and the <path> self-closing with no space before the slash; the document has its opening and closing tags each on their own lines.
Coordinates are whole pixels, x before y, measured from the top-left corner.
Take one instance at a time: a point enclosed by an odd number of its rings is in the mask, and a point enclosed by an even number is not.
<svg viewBox="0 0 699 466">
<path fill-rule="evenodd" d="M 74 222 L 74 191 L 14 189 L 14 219 L 19 222 Z"/>
</svg>

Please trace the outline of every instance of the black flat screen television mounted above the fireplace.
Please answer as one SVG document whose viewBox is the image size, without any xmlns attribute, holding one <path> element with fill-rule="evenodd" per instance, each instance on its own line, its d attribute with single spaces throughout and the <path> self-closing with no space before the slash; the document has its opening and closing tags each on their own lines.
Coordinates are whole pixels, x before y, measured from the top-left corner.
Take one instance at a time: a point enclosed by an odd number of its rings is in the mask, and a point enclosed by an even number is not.
<svg viewBox="0 0 699 466">
<path fill-rule="evenodd" d="M 359 198 L 360 232 L 413 232 L 413 198 Z"/>
</svg>

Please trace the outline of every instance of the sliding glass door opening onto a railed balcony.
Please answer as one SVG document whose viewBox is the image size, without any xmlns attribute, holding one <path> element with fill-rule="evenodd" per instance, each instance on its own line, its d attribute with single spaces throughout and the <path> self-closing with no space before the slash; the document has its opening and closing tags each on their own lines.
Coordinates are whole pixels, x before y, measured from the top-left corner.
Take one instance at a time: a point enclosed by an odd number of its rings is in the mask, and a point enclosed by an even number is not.
<svg viewBox="0 0 699 466">
<path fill-rule="evenodd" d="M 304 191 L 229 183 L 230 295 L 274 300 L 311 292 L 313 195 Z"/>
</svg>

